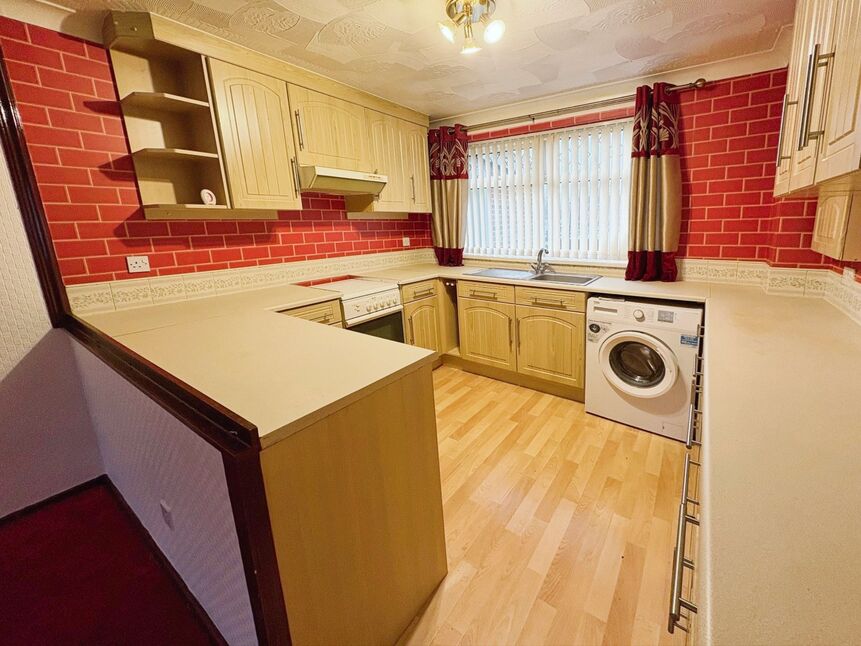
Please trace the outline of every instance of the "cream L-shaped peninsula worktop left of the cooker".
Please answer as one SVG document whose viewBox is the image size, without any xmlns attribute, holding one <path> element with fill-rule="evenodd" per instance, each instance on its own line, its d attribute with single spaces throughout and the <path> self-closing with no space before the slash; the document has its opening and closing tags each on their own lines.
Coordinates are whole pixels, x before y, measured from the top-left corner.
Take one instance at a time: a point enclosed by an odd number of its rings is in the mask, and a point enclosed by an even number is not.
<svg viewBox="0 0 861 646">
<path fill-rule="evenodd" d="M 286 285 L 82 318 L 257 426 L 265 448 L 435 356 L 279 313 L 337 297 Z"/>
</svg>

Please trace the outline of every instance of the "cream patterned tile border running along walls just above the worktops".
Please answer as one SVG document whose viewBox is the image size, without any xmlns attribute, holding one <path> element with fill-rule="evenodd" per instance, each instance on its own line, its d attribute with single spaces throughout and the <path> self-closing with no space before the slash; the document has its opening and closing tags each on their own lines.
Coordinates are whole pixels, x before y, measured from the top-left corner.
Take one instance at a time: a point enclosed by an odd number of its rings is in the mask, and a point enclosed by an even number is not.
<svg viewBox="0 0 861 646">
<path fill-rule="evenodd" d="M 66 292 L 72 311 L 92 314 L 427 262 L 436 262 L 433 249 L 409 249 L 242 269 L 87 283 L 69 286 Z M 480 267 L 525 267 L 527 263 L 471 259 L 467 260 L 466 264 Z M 570 271 L 572 268 L 565 269 Z M 624 269 L 616 267 L 583 265 L 576 269 L 578 272 L 602 276 L 624 275 Z M 767 263 L 760 261 L 679 260 L 680 280 L 754 285 L 761 287 L 767 294 L 824 298 L 861 324 L 861 283 L 855 281 L 850 272 L 847 272 L 846 276 L 844 280 L 840 274 L 828 269 L 769 267 Z"/>
</svg>

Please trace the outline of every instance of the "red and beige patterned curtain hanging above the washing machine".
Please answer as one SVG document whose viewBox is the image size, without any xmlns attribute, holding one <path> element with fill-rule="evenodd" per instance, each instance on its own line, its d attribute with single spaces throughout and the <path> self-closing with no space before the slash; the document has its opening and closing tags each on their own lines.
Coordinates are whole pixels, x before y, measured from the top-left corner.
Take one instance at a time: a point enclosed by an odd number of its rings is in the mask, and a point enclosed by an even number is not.
<svg viewBox="0 0 861 646">
<path fill-rule="evenodd" d="M 679 97 L 667 83 L 637 88 L 631 135 L 631 211 L 625 280 L 678 276 L 682 221 Z"/>
</svg>

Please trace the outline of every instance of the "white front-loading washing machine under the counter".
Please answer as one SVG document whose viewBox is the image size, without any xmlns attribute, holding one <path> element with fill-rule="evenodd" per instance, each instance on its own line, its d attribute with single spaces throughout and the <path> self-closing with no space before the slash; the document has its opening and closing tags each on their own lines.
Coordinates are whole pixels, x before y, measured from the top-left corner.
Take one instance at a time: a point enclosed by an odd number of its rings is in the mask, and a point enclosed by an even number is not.
<svg viewBox="0 0 861 646">
<path fill-rule="evenodd" d="M 586 307 L 586 412 L 686 439 L 701 307 L 593 296 Z"/>
</svg>

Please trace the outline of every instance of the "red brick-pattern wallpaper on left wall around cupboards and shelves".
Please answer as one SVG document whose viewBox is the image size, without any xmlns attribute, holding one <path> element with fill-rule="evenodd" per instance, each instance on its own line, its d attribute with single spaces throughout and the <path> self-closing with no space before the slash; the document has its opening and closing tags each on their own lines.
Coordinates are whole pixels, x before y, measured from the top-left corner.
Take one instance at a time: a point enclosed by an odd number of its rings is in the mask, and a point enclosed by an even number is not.
<svg viewBox="0 0 861 646">
<path fill-rule="evenodd" d="M 106 51 L 2 16 L 0 50 L 66 284 L 431 246 L 427 214 L 350 221 L 326 195 L 277 220 L 147 221 Z M 128 274 L 130 254 L 153 271 Z"/>
</svg>

